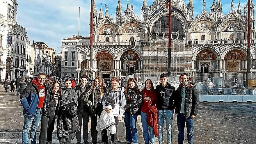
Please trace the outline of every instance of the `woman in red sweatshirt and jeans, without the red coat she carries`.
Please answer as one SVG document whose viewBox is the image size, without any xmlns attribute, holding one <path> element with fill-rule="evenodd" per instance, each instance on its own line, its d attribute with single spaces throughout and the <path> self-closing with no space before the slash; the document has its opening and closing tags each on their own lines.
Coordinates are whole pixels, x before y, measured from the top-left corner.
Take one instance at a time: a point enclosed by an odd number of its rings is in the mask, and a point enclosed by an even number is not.
<svg viewBox="0 0 256 144">
<path fill-rule="evenodd" d="M 143 138 L 145 144 L 154 144 L 154 129 L 147 123 L 148 107 L 154 106 L 157 103 L 157 95 L 151 79 L 145 81 L 144 89 L 142 90 L 141 104 L 141 123 L 143 128 Z"/>
</svg>

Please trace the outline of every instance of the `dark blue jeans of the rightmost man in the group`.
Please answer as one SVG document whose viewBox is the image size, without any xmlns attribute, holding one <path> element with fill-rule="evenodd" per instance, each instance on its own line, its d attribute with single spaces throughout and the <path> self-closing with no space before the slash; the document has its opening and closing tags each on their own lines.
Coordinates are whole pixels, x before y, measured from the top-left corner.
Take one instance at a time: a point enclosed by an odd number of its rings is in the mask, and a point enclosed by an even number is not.
<svg viewBox="0 0 256 144">
<path fill-rule="evenodd" d="M 183 113 L 178 113 L 178 115 L 177 115 L 177 126 L 178 126 L 178 131 L 179 131 L 178 144 L 183 144 L 185 123 L 186 123 L 186 127 L 187 127 L 187 132 L 188 132 L 188 143 L 192 144 L 193 143 L 194 120 L 191 118 L 191 116 L 186 118 L 185 114 L 183 114 Z"/>
</svg>

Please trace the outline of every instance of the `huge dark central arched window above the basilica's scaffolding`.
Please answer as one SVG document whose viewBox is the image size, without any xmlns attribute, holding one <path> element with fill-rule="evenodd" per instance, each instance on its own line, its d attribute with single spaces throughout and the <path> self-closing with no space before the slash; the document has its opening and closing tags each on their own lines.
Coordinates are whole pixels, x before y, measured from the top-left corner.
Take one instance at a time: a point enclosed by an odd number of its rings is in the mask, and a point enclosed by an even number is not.
<svg viewBox="0 0 256 144">
<path fill-rule="evenodd" d="M 157 31 L 159 32 L 159 36 L 162 37 L 163 34 L 168 35 L 169 32 L 169 16 L 163 16 L 157 19 L 157 21 L 152 26 L 152 35 L 153 39 L 157 39 Z M 171 29 L 172 29 L 172 38 L 183 39 L 184 38 L 184 30 L 181 22 L 172 16 L 171 21 Z"/>
</svg>

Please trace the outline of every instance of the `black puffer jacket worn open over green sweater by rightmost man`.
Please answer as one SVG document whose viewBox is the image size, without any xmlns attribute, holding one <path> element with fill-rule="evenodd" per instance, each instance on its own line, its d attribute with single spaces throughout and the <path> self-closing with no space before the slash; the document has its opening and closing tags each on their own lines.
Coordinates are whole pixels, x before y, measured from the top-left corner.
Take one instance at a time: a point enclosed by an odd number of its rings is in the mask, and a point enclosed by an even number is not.
<svg viewBox="0 0 256 144">
<path fill-rule="evenodd" d="M 175 99 L 175 113 L 179 113 L 181 109 L 181 91 L 182 91 L 182 84 L 176 90 L 176 99 Z M 185 90 L 185 115 L 186 118 L 190 117 L 191 115 L 197 115 L 199 108 L 199 94 L 196 89 L 194 83 L 189 82 L 188 88 Z"/>
</svg>

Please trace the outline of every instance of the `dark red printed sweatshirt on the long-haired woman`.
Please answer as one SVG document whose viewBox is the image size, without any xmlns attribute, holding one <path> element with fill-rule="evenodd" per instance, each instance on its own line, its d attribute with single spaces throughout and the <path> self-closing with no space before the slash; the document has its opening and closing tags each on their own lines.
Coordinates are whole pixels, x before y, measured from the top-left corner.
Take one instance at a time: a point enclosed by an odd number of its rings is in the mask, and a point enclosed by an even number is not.
<svg viewBox="0 0 256 144">
<path fill-rule="evenodd" d="M 142 91 L 142 104 L 141 111 L 147 113 L 148 107 L 157 103 L 157 94 L 155 91 L 148 91 L 144 89 Z"/>
</svg>

